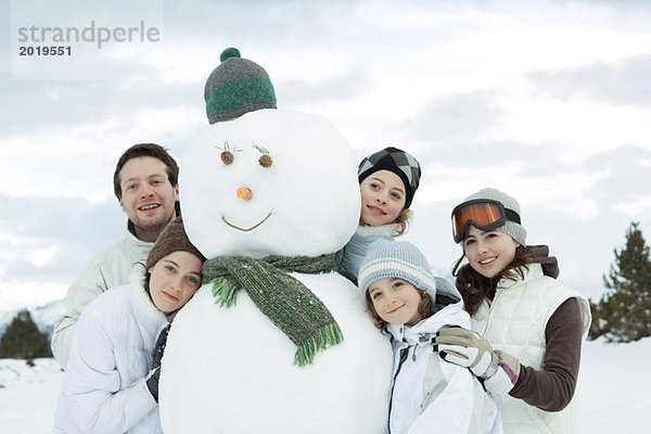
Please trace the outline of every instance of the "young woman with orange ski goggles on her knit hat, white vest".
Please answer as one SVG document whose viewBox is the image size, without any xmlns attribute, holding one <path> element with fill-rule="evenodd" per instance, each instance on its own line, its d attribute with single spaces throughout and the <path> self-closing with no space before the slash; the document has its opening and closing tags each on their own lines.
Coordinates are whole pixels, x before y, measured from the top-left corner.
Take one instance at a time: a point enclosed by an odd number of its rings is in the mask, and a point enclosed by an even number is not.
<svg viewBox="0 0 651 434">
<path fill-rule="evenodd" d="M 439 331 L 435 350 L 483 379 L 505 433 L 574 433 L 588 301 L 545 276 L 526 248 L 518 201 L 499 190 L 456 206 L 452 237 L 463 248 L 452 275 L 472 326 Z"/>
</svg>

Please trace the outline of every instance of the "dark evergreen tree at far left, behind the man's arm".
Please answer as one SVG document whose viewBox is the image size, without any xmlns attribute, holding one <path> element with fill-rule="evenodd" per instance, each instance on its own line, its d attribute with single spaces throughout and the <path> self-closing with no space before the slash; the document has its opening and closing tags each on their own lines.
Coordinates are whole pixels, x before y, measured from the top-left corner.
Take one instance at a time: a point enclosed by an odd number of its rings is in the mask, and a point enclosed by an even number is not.
<svg viewBox="0 0 651 434">
<path fill-rule="evenodd" d="M 48 334 L 38 330 L 29 310 L 21 310 L 0 337 L 0 358 L 52 357 Z"/>
</svg>

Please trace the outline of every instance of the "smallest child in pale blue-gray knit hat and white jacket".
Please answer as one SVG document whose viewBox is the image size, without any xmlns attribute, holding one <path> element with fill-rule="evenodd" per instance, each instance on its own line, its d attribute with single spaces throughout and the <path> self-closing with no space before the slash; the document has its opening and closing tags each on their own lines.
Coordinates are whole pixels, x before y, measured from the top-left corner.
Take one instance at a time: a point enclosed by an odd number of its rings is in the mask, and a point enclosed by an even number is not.
<svg viewBox="0 0 651 434">
<path fill-rule="evenodd" d="M 432 352 L 436 332 L 470 326 L 460 294 L 439 289 L 423 254 L 408 242 L 378 240 L 359 270 L 375 326 L 394 350 L 388 432 L 501 433 L 496 403 L 468 369 Z"/>
</svg>

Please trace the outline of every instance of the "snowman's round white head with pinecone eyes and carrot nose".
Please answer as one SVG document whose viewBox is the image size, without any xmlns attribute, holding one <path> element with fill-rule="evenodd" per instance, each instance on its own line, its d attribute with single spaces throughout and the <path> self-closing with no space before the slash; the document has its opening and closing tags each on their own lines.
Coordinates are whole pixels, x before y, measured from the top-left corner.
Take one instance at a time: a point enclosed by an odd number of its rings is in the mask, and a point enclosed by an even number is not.
<svg viewBox="0 0 651 434">
<path fill-rule="evenodd" d="M 258 110 L 217 123 L 181 161 L 186 230 L 207 258 L 336 252 L 359 222 L 356 169 L 322 117 Z"/>
</svg>

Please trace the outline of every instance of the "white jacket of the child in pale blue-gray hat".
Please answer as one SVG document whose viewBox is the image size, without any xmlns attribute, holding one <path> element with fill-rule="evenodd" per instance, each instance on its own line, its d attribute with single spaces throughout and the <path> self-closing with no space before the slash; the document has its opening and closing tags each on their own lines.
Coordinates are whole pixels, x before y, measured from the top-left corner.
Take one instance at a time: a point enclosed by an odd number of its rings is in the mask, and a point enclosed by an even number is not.
<svg viewBox="0 0 651 434">
<path fill-rule="evenodd" d="M 501 433 L 497 404 L 467 368 L 443 360 L 432 350 L 436 332 L 449 326 L 470 327 L 461 296 L 457 303 L 413 327 L 388 324 L 394 372 L 390 405 L 391 434 Z M 437 289 L 441 293 L 441 289 Z"/>
</svg>

